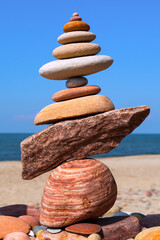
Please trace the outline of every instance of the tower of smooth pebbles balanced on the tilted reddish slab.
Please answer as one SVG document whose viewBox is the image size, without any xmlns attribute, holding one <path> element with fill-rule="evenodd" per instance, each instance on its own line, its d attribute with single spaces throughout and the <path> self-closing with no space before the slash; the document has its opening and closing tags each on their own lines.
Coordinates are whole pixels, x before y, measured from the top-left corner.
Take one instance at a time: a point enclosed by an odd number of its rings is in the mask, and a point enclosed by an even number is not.
<svg viewBox="0 0 160 240">
<path fill-rule="evenodd" d="M 53 50 L 53 56 L 59 60 L 45 64 L 40 75 L 52 80 L 65 80 L 66 87 L 52 97 L 56 104 L 42 109 L 35 118 L 35 124 L 53 123 L 62 119 L 102 113 L 114 109 L 112 101 L 106 96 L 96 95 L 101 89 L 98 86 L 85 86 L 88 80 L 84 75 L 102 71 L 111 66 L 113 59 L 98 55 L 101 48 L 91 43 L 96 38 L 88 32 L 89 25 L 74 13 L 70 22 L 63 27 L 64 34 L 58 37 L 63 44 Z"/>
</svg>

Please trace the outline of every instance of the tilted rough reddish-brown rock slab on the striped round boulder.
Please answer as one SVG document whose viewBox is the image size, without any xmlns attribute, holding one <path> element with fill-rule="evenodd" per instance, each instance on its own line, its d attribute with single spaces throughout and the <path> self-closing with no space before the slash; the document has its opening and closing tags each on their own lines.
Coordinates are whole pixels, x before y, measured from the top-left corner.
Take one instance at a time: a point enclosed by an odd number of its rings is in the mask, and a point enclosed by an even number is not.
<svg viewBox="0 0 160 240">
<path fill-rule="evenodd" d="M 148 106 L 55 123 L 21 142 L 22 177 L 33 179 L 75 158 L 107 153 L 148 116 Z"/>
</svg>

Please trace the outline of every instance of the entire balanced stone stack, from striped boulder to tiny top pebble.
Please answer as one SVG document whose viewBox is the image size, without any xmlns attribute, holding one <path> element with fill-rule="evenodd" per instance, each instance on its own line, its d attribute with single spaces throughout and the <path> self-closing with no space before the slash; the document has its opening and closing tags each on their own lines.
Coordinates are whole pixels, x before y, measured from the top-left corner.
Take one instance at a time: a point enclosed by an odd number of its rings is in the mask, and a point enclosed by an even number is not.
<svg viewBox="0 0 160 240">
<path fill-rule="evenodd" d="M 108 97 L 96 95 L 100 87 L 86 86 L 84 76 L 113 63 L 109 56 L 96 55 L 101 48 L 91 43 L 96 36 L 89 29 L 78 13 L 64 25 L 65 33 L 58 37 L 62 46 L 53 50 L 59 60 L 45 64 L 39 72 L 47 79 L 67 80 L 67 89 L 55 93 L 55 103 L 35 117 L 36 125 L 51 126 L 21 143 L 23 179 L 53 169 L 40 215 L 41 224 L 50 228 L 98 218 L 113 206 L 117 186 L 112 173 L 87 157 L 111 151 L 149 114 L 147 106 L 115 110 Z"/>
</svg>

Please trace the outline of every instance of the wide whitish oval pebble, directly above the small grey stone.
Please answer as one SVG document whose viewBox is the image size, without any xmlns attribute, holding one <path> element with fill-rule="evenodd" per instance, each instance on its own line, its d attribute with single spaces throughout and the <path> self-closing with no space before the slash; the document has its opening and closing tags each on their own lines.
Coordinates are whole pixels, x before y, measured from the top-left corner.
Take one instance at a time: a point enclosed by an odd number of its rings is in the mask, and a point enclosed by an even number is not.
<svg viewBox="0 0 160 240">
<path fill-rule="evenodd" d="M 105 55 L 76 57 L 46 63 L 40 68 L 39 73 L 47 79 L 66 80 L 103 71 L 112 63 L 113 59 Z"/>
</svg>

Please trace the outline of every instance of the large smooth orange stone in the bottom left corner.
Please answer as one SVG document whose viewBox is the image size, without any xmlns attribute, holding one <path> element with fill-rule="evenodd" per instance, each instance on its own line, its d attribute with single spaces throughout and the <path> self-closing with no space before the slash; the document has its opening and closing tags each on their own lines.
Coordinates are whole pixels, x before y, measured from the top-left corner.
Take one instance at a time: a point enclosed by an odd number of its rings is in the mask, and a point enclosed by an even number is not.
<svg viewBox="0 0 160 240">
<path fill-rule="evenodd" d="M 0 239 L 5 238 L 5 236 L 9 233 L 29 233 L 29 231 L 29 224 L 22 221 L 21 219 L 10 216 L 0 216 Z"/>
</svg>

